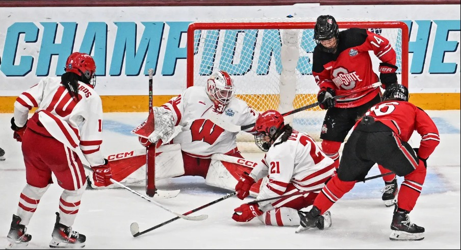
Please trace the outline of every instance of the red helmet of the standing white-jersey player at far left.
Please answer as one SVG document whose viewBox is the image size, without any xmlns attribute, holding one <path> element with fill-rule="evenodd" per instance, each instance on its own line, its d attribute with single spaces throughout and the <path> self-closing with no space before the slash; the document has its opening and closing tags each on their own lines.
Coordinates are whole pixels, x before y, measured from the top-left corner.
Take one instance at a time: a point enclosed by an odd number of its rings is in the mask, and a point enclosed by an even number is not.
<svg viewBox="0 0 461 250">
<path fill-rule="evenodd" d="M 66 72 L 78 74 L 82 82 L 91 86 L 96 86 L 96 64 L 93 58 L 85 53 L 74 52 L 70 54 L 66 61 Z"/>
</svg>

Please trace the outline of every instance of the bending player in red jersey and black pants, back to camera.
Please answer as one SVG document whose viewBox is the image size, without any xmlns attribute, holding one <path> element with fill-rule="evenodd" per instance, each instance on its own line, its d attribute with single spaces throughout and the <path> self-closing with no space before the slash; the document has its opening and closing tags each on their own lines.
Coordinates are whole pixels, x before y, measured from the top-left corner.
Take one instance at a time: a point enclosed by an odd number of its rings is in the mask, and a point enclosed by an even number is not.
<svg viewBox="0 0 461 250">
<path fill-rule="evenodd" d="M 410 222 L 408 213 L 415 207 L 426 178 L 426 160 L 439 144 L 439 131 L 420 108 L 408 103 L 408 89 L 395 85 L 383 94 L 383 101 L 359 119 L 344 145 L 338 174 L 329 180 L 301 220 L 304 228 L 317 227 L 327 211 L 363 180 L 370 168 L 381 164 L 403 176 L 391 223 L 391 240 L 422 240 L 424 228 Z M 419 148 L 408 144 L 413 131 L 421 135 Z M 320 221 L 321 222 L 321 221 Z"/>
</svg>

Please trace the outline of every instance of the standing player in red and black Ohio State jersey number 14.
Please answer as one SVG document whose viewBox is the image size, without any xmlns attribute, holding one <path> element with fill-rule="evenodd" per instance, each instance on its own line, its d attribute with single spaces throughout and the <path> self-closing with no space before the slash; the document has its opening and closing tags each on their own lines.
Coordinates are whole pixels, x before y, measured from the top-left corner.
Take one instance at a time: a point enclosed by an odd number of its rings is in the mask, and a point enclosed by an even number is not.
<svg viewBox="0 0 461 250">
<path fill-rule="evenodd" d="M 380 88 L 370 88 L 362 92 L 335 100 L 356 88 L 381 82 L 388 88 L 397 84 L 396 54 L 389 40 L 366 29 L 351 28 L 339 32 L 334 17 L 321 15 L 314 28 L 317 46 L 314 48 L 312 74 L 320 90 L 317 95 L 320 107 L 326 109 L 320 138 L 322 149 L 327 156 L 339 164 L 339 149 L 357 117 L 381 101 Z M 369 51 L 381 60 L 379 78 L 373 71 Z M 381 173 L 388 172 L 379 166 Z M 386 187 L 382 200 L 387 207 L 395 203 L 397 180 L 395 174 L 383 177 Z"/>
</svg>

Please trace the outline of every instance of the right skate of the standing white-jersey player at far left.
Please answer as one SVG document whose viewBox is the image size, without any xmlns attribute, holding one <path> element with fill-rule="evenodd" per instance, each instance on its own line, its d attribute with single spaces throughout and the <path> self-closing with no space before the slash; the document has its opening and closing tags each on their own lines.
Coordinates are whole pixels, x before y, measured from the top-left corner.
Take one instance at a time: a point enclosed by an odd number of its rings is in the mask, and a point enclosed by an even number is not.
<svg viewBox="0 0 461 250">
<path fill-rule="evenodd" d="M 59 213 L 56 212 L 55 229 L 53 230 L 53 239 L 49 242 L 49 247 L 53 248 L 77 248 L 84 247 L 86 237 L 83 234 L 72 231 L 71 227 L 59 223 Z"/>
</svg>

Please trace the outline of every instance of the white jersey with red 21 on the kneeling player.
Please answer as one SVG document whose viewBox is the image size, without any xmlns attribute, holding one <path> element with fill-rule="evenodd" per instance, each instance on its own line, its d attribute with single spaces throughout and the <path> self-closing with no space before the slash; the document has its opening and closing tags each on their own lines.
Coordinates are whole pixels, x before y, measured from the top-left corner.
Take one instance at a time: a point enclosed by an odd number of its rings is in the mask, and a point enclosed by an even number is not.
<svg viewBox="0 0 461 250">
<path fill-rule="evenodd" d="M 279 136 L 275 142 L 279 142 Z M 288 140 L 272 145 L 261 162 L 253 168 L 250 177 L 255 181 L 269 176 L 260 188 L 257 200 L 283 195 L 290 183 L 309 191 L 325 186 L 335 167 L 334 161 L 322 152 L 309 135 L 293 130 Z M 263 207 L 271 201 L 259 203 Z"/>
</svg>

